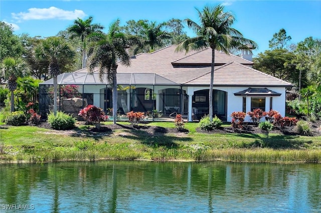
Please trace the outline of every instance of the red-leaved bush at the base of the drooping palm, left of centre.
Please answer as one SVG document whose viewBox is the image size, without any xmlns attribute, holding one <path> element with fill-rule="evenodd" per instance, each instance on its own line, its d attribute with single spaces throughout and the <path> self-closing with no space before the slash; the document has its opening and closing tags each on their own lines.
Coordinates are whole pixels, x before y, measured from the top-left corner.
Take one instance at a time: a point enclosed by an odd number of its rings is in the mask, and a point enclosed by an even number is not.
<svg viewBox="0 0 321 213">
<path fill-rule="evenodd" d="M 108 120 L 108 116 L 105 115 L 104 111 L 94 105 L 88 105 L 80 110 L 78 116 L 81 116 L 87 122 L 95 123 L 95 127 L 98 130 L 100 130 L 100 122 Z"/>
</svg>

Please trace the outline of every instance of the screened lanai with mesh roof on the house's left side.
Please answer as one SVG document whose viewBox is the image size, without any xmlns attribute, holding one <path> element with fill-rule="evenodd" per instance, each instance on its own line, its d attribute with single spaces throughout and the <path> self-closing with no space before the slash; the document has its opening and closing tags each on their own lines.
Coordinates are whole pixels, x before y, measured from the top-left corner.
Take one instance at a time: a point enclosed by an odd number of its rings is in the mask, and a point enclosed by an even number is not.
<svg viewBox="0 0 321 213">
<path fill-rule="evenodd" d="M 112 115 L 112 85 L 98 73 L 70 72 L 58 75 L 57 109 L 77 115 L 93 104 Z M 187 117 L 187 88 L 154 73 L 117 73 L 117 119 L 126 120 L 129 111 L 144 112 L 147 120 L 166 120 L 175 113 Z M 42 116 L 53 109 L 53 79 L 40 84 L 39 108 Z M 113 118 L 111 117 L 111 120 Z"/>
</svg>

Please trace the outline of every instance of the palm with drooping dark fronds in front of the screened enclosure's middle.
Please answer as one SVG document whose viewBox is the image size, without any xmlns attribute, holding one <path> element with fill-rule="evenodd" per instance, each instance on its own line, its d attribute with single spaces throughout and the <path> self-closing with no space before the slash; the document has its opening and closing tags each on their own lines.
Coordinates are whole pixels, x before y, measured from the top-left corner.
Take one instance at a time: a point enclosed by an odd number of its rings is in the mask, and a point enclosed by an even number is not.
<svg viewBox="0 0 321 213">
<path fill-rule="evenodd" d="M 90 44 L 88 49 L 89 72 L 93 73 L 95 67 L 99 67 L 100 80 L 106 75 L 107 80 L 112 82 L 112 113 L 114 124 L 117 118 L 117 61 L 129 66 L 130 57 L 126 52 L 127 40 L 123 33 L 119 31 L 119 20 L 113 22 L 107 35 L 92 34 L 91 38 L 96 42 Z"/>
</svg>

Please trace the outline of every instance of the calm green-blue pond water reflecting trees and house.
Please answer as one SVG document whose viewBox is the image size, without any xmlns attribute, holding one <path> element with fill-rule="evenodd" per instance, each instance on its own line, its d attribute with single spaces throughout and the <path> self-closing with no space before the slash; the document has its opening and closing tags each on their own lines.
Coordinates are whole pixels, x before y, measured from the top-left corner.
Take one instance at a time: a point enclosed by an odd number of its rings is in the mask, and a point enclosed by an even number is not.
<svg viewBox="0 0 321 213">
<path fill-rule="evenodd" d="M 320 212 L 321 164 L 0 165 L 0 212 Z"/>
</svg>

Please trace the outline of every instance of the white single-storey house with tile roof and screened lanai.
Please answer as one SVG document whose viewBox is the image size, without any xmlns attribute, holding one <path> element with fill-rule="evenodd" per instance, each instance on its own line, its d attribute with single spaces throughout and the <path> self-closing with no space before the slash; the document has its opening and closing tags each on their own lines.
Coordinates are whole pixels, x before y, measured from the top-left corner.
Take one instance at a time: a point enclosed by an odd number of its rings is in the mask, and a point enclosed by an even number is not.
<svg viewBox="0 0 321 213">
<path fill-rule="evenodd" d="M 188 121 L 200 120 L 209 113 L 212 51 L 175 52 L 176 47 L 138 54 L 128 67 L 118 64 L 119 113 L 154 110 L 161 112 L 163 118 L 178 113 Z M 273 109 L 285 116 L 286 87 L 293 85 L 253 69 L 251 59 L 249 51 L 242 52 L 242 57 L 215 51 L 213 114 L 223 121 L 230 122 L 233 112 L 257 108 Z M 50 102 L 46 88 L 52 84 L 52 79 L 41 84 L 43 112 L 48 111 Z M 86 98 L 88 104 L 104 111 L 112 108 L 111 85 L 99 80 L 97 70 L 93 74 L 86 68 L 63 73 L 58 76 L 58 84 L 78 85 L 81 98 Z"/>
</svg>

